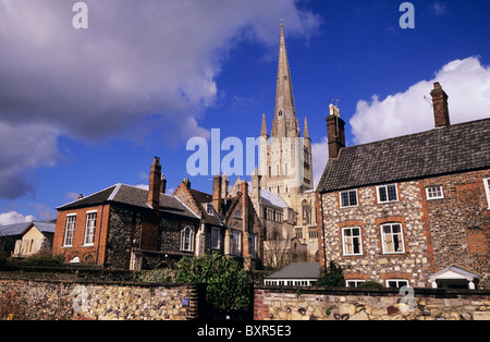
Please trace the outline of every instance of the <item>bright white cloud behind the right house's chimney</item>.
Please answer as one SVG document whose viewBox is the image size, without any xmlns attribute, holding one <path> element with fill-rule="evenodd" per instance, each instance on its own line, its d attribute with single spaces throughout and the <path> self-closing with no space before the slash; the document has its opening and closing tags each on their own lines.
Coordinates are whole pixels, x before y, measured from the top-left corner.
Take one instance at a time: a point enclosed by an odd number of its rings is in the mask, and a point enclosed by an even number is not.
<svg viewBox="0 0 490 342">
<path fill-rule="evenodd" d="M 359 100 L 350 123 L 356 144 L 422 132 L 434 126 L 433 110 L 428 101 L 433 83 L 440 82 L 449 95 L 451 123 L 490 117 L 490 68 L 476 57 L 444 65 L 431 81 L 420 81 L 404 93 L 380 100 Z"/>
</svg>

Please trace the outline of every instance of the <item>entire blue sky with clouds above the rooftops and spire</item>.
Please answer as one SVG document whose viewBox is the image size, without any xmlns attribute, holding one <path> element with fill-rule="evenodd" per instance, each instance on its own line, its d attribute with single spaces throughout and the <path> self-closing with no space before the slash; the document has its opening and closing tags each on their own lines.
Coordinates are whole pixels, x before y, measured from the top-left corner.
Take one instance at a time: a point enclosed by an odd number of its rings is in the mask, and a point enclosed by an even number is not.
<svg viewBox="0 0 490 342">
<path fill-rule="evenodd" d="M 413 29 L 395 0 L 87 0 L 87 29 L 72 2 L 0 0 L 0 224 L 145 185 L 154 156 L 175 188 L 191 137 L 220 129 L 245 144 L 262 113 L 270 130 L 281 19 L 316 178 L 332 98 L 347 145 L 432 129 L 436 81 L 453 123 L 490 115 L 488 1 L 411 1 Z M 191 181 L 211 192 L 211 178 Z"/>
</svg>

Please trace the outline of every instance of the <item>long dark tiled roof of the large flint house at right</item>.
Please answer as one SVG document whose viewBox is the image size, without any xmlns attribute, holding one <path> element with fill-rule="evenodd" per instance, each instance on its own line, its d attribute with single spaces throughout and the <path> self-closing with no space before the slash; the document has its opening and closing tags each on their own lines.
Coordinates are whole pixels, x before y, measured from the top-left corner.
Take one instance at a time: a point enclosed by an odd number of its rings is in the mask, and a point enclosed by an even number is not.
<svg viewBox="0 0 490 342">
<path fill-rule="evenodd" d="M 328 193 L 490 168 L 490 119 L 344 147 L 317 192 Z"/>
</svg>

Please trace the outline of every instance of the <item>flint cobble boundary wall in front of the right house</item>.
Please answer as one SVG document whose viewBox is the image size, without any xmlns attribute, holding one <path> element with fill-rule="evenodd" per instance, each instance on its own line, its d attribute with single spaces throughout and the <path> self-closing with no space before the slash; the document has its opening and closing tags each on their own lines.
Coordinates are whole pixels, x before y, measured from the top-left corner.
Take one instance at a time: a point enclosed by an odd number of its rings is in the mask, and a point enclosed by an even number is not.
<svg viewBox="0 0 490 342">
<path fill-rule="evenodd" d="M 254 289 L 255 320 L 489 320 L 490 291 Z"/>
</svg>

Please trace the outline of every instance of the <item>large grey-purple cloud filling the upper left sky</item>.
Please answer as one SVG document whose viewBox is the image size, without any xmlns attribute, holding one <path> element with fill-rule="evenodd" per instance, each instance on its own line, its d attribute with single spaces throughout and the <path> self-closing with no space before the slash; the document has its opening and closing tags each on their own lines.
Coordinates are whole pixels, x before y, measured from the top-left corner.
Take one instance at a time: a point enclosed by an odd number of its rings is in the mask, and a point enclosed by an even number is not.
<svg viewBox="0 0 490 342">
<path fill-rule="evenodd" d="M 291 35 L 319 26 L 298 0 L 84 2 L 88 29 L 72 26 L 74 2 L 0 0 L 0 146 L 12 147 L 0 151 L 0 198 L 35 192 L 25 173 L 56 164 L 61 135 L 208 137 L 198 119 L 237 41 L 277 45 L 281 17 Z"/>
</svg>

